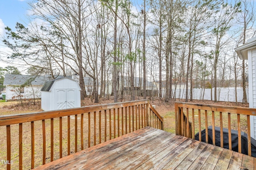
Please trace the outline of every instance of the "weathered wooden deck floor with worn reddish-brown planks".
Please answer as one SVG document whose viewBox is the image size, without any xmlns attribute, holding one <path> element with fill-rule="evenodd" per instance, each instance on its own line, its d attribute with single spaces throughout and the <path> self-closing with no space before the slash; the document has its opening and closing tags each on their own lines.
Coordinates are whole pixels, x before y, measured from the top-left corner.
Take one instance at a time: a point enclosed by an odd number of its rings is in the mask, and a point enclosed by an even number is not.
<svg viewBox="0 0 256 170">
<path fill-rule="evenodd" d="M 256 158 L 152 127 L 81 150 L 38 169 L 256 169 Z"/>
</svg>

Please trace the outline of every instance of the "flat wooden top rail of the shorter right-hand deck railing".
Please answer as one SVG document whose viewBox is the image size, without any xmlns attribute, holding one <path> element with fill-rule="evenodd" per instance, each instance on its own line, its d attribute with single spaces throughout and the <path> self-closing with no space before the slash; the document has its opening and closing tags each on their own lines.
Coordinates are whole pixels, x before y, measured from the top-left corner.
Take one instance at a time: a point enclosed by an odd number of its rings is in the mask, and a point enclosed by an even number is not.
<svg viewBox="0 0 256 170">
<path fill-rule="evenodd" d="M 236 113 L 236 114 L 243 114 L 243 115 L 256 115 L 256 108 L 248 108 L 248 107 L 205 105 L 205 104 L 195 104 L 195 103 L 186 103 L 186 102 L 175 102 L 175 105 L 176 107 L 186 107 L 186 108 L 192 108 L 192 109 L 221 111 L 221 112 Z"/>
</svg>

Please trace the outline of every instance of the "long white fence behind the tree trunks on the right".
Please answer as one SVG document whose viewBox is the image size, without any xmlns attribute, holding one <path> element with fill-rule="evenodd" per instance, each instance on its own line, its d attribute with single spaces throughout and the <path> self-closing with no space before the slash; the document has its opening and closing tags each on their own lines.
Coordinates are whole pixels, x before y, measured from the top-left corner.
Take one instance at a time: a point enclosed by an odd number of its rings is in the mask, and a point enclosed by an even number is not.
<svg viewBox="0 0 256 170">
<path fill-rule="evenodd" d="M 185 99 L 186 89 L 174 89 L 173 95 L 176 98 Z M 247 101 L 249 102 L 248 89 L 246 89 Z M 188 89 L 188 99 L 190 99 L 190 89 Z M 195 100 L 211 100 L 211 89 L 194 88 L 193 99 Z M 214 88 L 212 89 L 212 100 L 214 100 Z M 217 88 L 217 100 L 222 102 L 236 102 L 235 88 Z M 237 102 L 243 101 L 243 89 L 237 88 Z"/>
</svg>

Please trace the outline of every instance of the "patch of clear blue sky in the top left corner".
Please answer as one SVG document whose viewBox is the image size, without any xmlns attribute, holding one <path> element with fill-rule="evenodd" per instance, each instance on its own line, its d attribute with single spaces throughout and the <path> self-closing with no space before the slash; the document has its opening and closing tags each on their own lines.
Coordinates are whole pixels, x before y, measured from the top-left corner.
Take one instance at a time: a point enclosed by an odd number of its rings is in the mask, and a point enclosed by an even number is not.
<svg viewBox="0 0 256 170">
<path fill-rule="evenodd" d="M 0 19 L 4 26 L 14 29 L 16 22 L 26 21 L 28 0 L 0 0 Z M 3 27 L 0 23 L 0 26 Z"/>
</svg>

